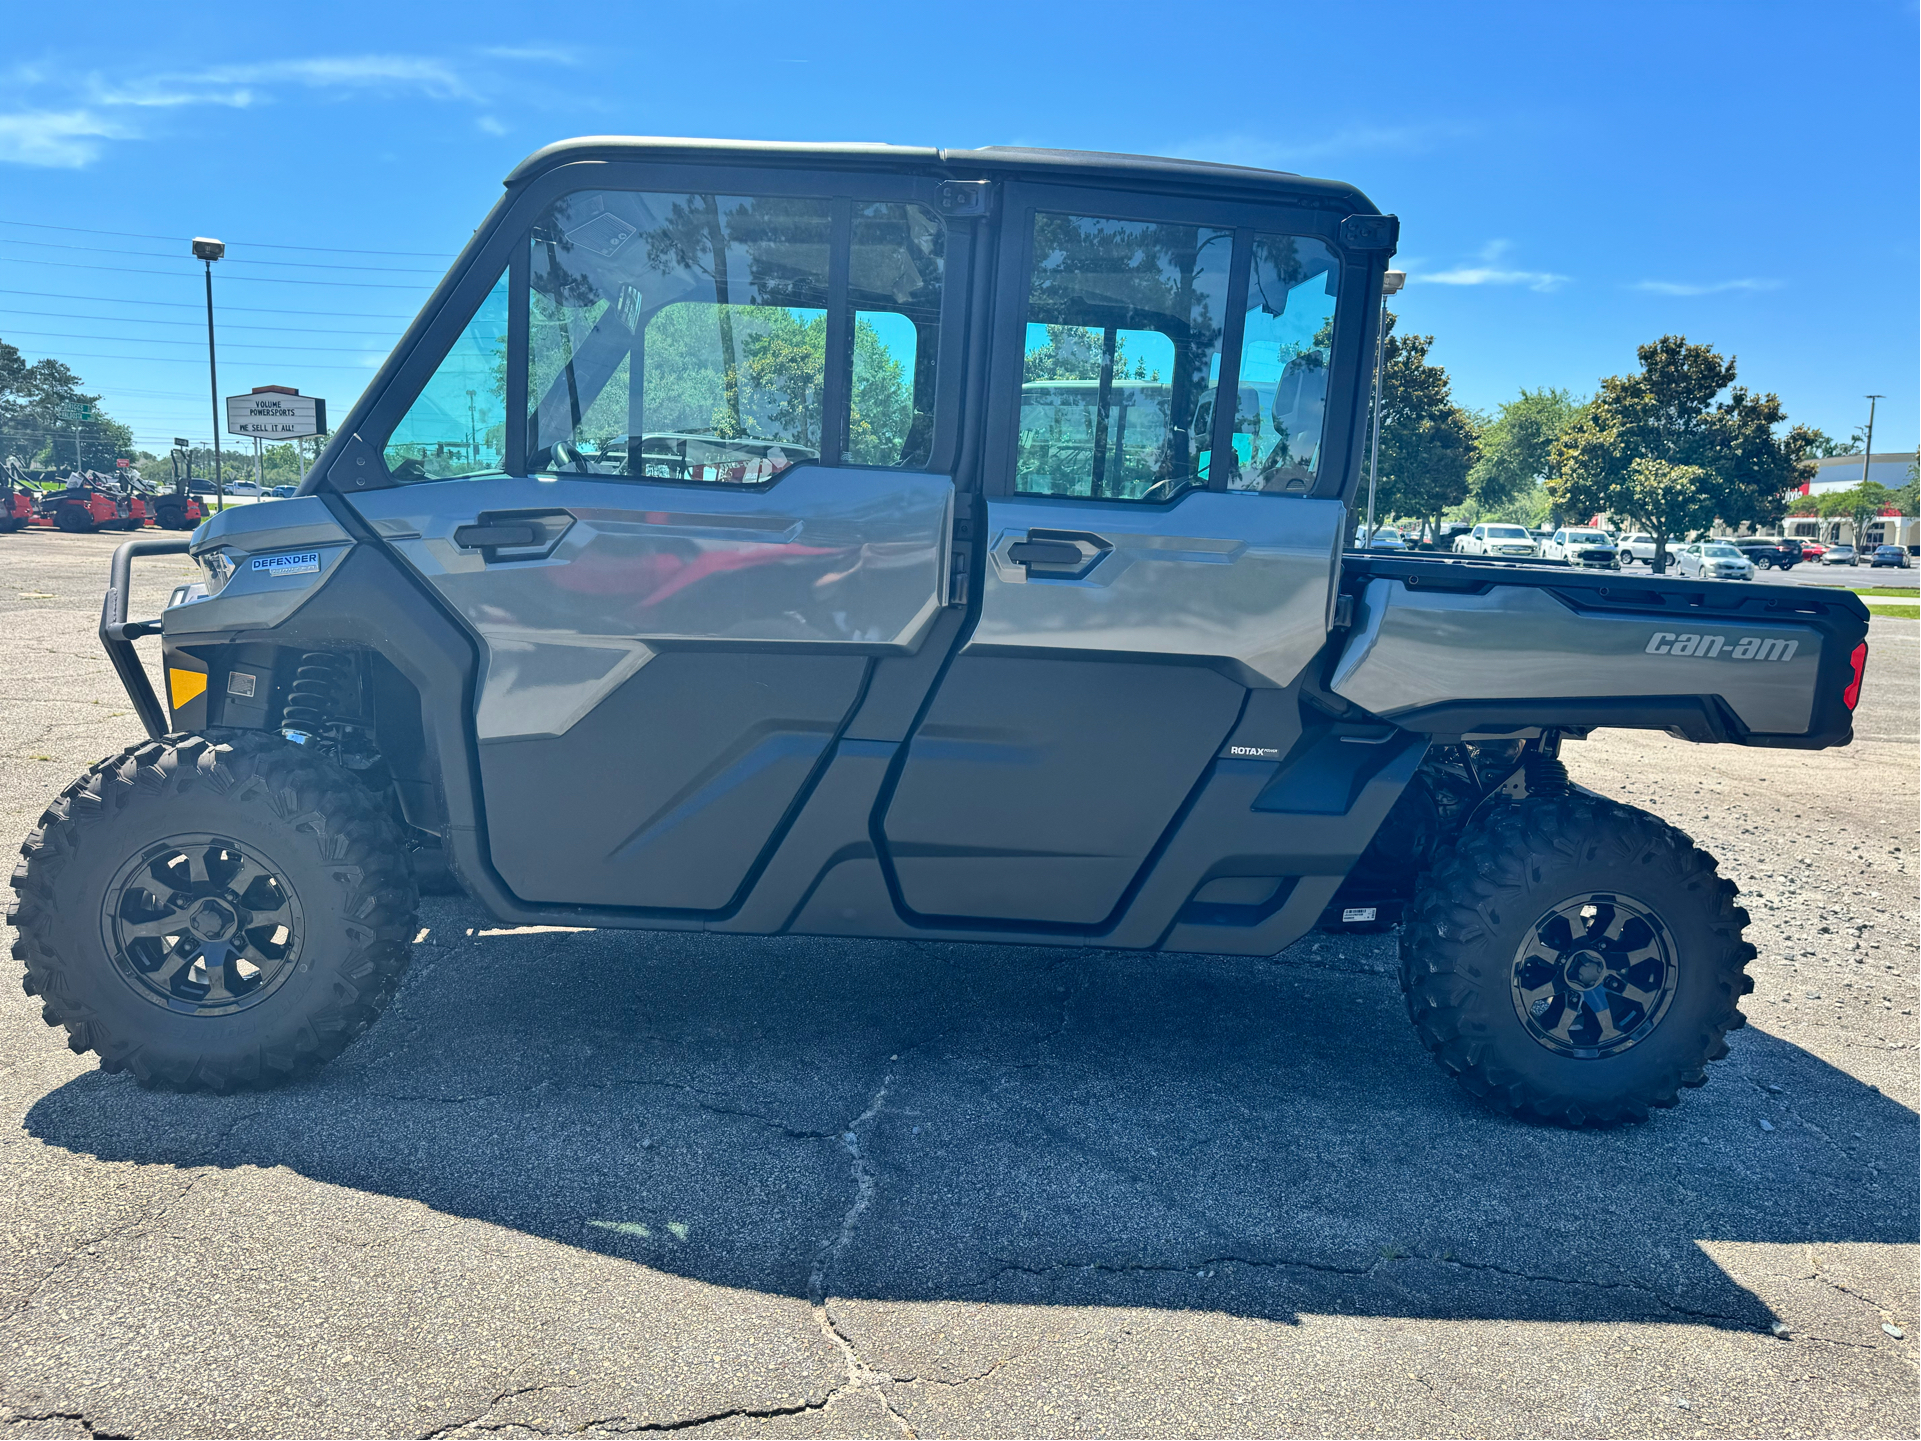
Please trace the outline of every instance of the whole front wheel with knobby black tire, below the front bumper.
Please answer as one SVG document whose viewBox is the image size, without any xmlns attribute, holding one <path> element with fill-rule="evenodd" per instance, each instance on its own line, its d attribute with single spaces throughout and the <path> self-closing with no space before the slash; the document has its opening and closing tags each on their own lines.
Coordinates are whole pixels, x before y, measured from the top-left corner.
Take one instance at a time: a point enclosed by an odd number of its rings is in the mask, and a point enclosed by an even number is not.
<svg viewBox="0 0 1921 1441">
<path fill-rule="evenodd" d="M 307 1074 L 386 1007 L 415 934 L 400 828 L 350 772 L 261 732 L 109 757 L 40 817 L 8 920 L 67 1045 L 150 1087 Z"/>
</svg>

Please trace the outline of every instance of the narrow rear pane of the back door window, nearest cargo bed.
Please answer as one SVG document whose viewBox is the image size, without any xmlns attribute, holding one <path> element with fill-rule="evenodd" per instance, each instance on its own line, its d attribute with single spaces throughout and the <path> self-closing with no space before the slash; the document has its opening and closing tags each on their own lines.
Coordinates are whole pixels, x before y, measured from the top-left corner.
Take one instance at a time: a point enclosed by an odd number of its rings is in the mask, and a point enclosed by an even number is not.
<svg viewBox="0 0 1921 1441">
<path fill-rule="evenodd" d="M 1320 471 L 1341 263 L 1310 236 L 1256 234 L 1229 490 L 1304 494 Z"/>
</svg>

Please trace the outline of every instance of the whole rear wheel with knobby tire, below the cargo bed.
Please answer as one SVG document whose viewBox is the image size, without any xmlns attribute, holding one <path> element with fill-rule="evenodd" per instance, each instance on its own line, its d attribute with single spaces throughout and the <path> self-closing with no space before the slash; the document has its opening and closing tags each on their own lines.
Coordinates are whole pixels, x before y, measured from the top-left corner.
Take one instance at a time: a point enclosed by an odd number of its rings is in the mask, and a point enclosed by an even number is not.
<svg viewBox="0 0 1921 1441">
<path fill-rule="evenodd" d="M 1564 1126 L 1644 1120 L 1708 1080 L 1754 989 L 1733 882 L 1687 836 L 1596 795 L 1477 822 L 1400 932 L 1422 1041 L 1468 1091 Z"/>
</svg>

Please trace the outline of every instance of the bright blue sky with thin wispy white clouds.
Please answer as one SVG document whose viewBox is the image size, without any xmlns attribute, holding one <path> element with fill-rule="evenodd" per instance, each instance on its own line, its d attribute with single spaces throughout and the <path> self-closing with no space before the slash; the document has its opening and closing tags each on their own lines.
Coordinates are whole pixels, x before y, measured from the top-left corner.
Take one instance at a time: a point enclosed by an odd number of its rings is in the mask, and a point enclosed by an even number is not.
<svg viewBox="0 0 1921 1441">
<path fill-rule="evenodd" d="M 1464 403 L 1589 394 L 1681 332 L 1792 421 L 1846 436 L 1879 390 L 1875 450 L 1917 440 L 1913 0 L 108 0 L 6 31 L 0 336 L 148 448 L 209 432 L 186 236 L 231 244 L 221 390 L 338 417 L 507 169 L 596 133 L 1333 175 L 1400 215 L 1402 325 Z"/>
</svg>

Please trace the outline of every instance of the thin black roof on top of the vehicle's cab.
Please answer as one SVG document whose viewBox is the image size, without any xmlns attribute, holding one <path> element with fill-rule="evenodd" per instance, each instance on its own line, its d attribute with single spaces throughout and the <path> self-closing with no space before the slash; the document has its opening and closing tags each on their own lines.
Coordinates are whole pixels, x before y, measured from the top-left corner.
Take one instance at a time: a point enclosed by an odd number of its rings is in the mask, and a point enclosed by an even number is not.
<svg viewBox="0 0 1921 1441">
<path fill-rule="evenodd" d="M 688 140 L 653 134 L 586 134 L 542 146 L 515 165 L 505 183 L 515 186 L 576 159 L 707 159 L 720 163 L 811 159 L 832 169 L 864 165 L 924 169 L 945 179 L 1026 177 L 1091 184 L 1204 184 L 1222 190 L 1266 192 L 1276 198 L 1316 198 L 1345 206 L 1350 213 L 1379 213 L 1372 200 L 1343 181 L 1318 181 L 1289 171 L 1264 171 L 1254 165 L 1222 165 L 1212 159 L 1122 156 L 1106 150 L 1033 150 L 1028 146 L 936 150 L 934 146 L 891 146 L 861 140 Z"/>
</svg>

